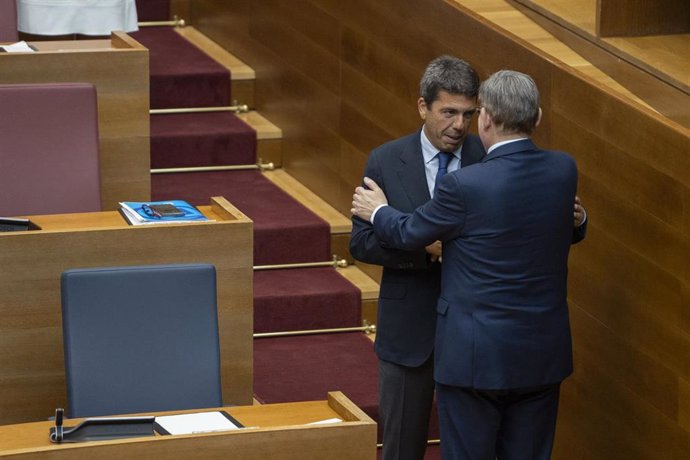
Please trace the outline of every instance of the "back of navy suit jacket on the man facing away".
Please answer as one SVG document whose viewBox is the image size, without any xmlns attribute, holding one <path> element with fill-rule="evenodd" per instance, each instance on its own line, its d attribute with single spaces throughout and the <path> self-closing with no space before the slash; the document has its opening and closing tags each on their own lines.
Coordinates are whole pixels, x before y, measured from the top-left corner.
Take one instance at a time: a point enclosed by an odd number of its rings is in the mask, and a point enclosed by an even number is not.
<svg viewBox="0 0 690 460">
<path fill-rule="evenodd" d="M 438 203 L 464 211 L 444 238 L 436 380 L 484 389 L 562 380 L 572 372 L 566 283 L 575 162 L 525 140 L 451 177 Z"/>
</svg>

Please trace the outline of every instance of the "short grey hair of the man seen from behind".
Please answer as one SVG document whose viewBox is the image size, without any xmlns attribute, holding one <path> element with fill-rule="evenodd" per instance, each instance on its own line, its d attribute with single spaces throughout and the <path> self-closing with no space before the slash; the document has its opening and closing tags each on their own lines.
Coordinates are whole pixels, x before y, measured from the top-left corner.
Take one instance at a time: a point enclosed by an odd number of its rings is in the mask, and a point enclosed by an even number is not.
<svg viewBox="0 0 690 460">
<path fill-rule="evenodd" d="M 480 86 L 479 101 L 504 133 L 532 134 L 539 120 L 539 90 L 524 73 L 494 73 Z"/>
</svg>

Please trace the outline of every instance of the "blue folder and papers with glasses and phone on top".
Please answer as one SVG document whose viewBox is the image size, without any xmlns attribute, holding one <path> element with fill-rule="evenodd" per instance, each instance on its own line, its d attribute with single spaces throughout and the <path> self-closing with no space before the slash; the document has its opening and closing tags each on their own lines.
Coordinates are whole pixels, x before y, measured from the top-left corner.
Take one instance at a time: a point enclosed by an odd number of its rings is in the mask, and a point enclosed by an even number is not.
<svg viewBox="0 0 690 460">
<path fill-rule="evenodd" d="M 213 222 L 196 207 L 183 200 L 121 201 L 120 212 L 130 225 Z"/>
</svg>

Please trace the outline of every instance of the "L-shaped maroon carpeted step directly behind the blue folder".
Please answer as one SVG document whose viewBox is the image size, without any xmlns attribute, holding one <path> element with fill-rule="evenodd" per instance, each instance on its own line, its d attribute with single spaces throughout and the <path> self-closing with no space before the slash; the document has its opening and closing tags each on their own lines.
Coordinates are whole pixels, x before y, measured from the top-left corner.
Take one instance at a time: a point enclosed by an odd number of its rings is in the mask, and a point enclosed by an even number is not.
<svg viewBox="0 0 690 460">
<path fill-rule="evenodd" d="M 152 200 L 223 196 L 254 221 L 254 265 L 331 260 L 330 226 L 258 171 L 153 174 Z"/>
</svg>

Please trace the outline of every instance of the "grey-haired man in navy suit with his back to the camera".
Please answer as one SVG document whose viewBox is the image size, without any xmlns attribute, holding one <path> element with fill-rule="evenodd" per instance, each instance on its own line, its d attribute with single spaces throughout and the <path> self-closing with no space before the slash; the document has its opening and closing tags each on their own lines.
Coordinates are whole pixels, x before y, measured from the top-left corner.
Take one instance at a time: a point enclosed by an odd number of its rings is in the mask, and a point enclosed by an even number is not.
<svg viewBox="0 0 690 460">
<path fill-rule="evenodd" d="M 412 214 L 369 178 L 353 214 L 382 245 L 443 241 L 435 371 L 444 459 L 548 459 L 560 382 L 572 372 L 566 303 L 577 169 L 529 139 L 541 117 L 532 79 L 492 75 L 479 91 L 488 154 L 446 174 Z M 577 239 L 577 238 L 576 238 Z"/>
</svg>

